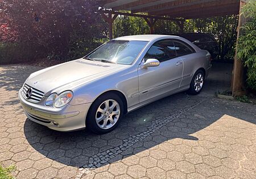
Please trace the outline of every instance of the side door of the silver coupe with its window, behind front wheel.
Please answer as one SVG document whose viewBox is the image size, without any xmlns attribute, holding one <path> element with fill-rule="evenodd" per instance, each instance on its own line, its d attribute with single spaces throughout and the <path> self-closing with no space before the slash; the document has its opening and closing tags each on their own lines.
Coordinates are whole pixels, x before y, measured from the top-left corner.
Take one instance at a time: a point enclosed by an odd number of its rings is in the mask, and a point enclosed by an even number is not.
<svg viewBox="0 0 256 179">
<path fill-rule="evenodd" d="M 160 65 L 145 68 L 143 64 L 149 58 L 158 59 Z M 174 42 L 155 42 L 138 67 L 139 103 L 179 88 L 182 74 L 183 60 L 176 56 Z"/>
</svg>

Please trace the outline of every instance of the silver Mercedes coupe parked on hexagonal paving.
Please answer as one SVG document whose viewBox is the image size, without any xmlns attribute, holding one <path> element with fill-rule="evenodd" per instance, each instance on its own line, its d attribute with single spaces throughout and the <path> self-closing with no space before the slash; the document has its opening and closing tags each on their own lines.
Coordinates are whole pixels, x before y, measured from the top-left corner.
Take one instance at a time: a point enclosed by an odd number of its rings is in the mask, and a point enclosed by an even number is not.
<svg viewBox="0 0 256 179">
<path fill-rule="evenodd" d="M 51 129 L 107 133 L 148 103 L 185 90 L 198 94 L 210 61 L 182 37 L 118 37 L 84 58 L 32 73 L 20 104 L 31 121 Z"/>
</svg>

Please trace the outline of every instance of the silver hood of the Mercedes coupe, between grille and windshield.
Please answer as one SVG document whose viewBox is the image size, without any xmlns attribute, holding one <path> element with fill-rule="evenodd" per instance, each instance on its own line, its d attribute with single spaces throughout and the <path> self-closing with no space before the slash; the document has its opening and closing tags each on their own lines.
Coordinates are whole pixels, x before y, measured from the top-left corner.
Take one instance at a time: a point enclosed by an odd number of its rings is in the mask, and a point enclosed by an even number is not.
<svg viewBox="0 0 256 179">
<path fill-rule="evenodd" d="M 127 65 L 77 59 L 32 73 L 26 84 L 48 96 L 52 92 L 72 90 L 74 87 L 113 74 Z"/>
</svg>

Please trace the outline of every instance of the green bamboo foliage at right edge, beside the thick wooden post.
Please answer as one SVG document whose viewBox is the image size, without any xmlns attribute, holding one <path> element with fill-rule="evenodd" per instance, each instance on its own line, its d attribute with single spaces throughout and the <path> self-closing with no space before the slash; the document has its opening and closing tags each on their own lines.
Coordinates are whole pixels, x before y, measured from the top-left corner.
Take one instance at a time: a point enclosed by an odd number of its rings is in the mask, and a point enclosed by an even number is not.
<svg viewBox="0 0 256 179">
<path fill-rule="evenodd" d="M 241 27 L 237 57 L 247 67 L 247 85 L 256 90 L 256 2 L 247 3 L 242 9 L 247 22 Z"/>
</svg>

